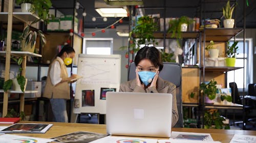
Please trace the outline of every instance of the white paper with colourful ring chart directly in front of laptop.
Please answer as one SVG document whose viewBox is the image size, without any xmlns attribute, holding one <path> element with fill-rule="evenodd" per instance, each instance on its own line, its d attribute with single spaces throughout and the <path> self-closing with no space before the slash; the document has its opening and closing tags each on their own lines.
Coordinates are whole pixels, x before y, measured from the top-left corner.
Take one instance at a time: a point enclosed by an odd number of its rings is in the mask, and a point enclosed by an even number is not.
<svg viewBox="0 0 256 143">
<path fill-rule="evenodd" d="M 119 137 L 119 136 L 106 136 L 97 140 L 94 140 L 90 143 L 113 143 L 113 142 L 138 142 L 138 143 L 157 143 L 157 139 L 150 138 L 139 138 L 139 137 Z"/>
</svg>

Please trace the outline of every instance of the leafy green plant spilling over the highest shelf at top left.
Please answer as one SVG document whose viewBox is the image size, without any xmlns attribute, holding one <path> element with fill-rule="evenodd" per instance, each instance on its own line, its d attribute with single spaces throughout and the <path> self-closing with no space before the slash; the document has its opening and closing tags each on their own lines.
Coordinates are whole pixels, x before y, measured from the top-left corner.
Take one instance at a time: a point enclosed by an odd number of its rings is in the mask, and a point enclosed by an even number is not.
<svg viewBox="0 0 256 143">
<path fill-rule="evenodd" d="M 49 23 L 49 18 L 54 18 L 54 15 L 49 14 L 49 9 L 52 7 L 52 3 L 50 0 L 17 0 L 16 3 L 23 7 L 24 3 L 31 4 L 31 8 L 29 8 L 26 12 L 36 13 L 39 19 L 33 21 L 32 23 L 38 22 L 40 19 L 44 20 L 44 22 Z"/>
</svg>

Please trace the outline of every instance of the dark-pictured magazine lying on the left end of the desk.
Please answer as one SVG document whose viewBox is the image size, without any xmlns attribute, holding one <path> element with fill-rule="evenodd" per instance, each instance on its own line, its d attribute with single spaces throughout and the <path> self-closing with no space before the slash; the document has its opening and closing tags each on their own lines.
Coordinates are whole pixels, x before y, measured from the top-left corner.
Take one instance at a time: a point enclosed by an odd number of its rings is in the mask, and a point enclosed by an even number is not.
<svg viewBox="0 0 256 143">
<path fill-rule="evenodd" d="M 46 133 L 53 124 L 13 124 L 0 130 L 0 133 Z"/>
</svg>

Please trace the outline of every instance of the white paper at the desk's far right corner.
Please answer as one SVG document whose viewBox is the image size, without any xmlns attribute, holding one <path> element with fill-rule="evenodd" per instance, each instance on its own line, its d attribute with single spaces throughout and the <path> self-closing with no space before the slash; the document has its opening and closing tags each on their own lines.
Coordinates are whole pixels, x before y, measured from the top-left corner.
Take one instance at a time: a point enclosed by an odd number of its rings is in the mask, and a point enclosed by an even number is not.
<svg viewBox="0 0 256 143">
<path fill-rule="evenodd" d="M 255 143 L 256 136 L 255 135 L 243 135 L 243 134 L 234 134 L 233 138 L 229 143 Z"/>
</svg>

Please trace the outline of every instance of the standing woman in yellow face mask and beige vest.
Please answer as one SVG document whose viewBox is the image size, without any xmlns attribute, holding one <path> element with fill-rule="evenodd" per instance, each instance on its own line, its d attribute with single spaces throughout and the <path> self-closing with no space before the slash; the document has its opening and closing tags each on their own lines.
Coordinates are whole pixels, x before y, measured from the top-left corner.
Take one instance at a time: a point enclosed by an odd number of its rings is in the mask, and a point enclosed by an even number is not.
<svg viewBox="0 0 256 143">
<path fill-rule="evenodd" d="M 76 78 L 76 74 L 68 77 L 66 65 L 72 63 L 74 56 L 75 50 L 71 46 L 65 45 L 48 69 L 43 97 L 50 99 L 56 122 L 68 122 L 66 100 L 70 99 L 69 81 Z"/>
</svg>

